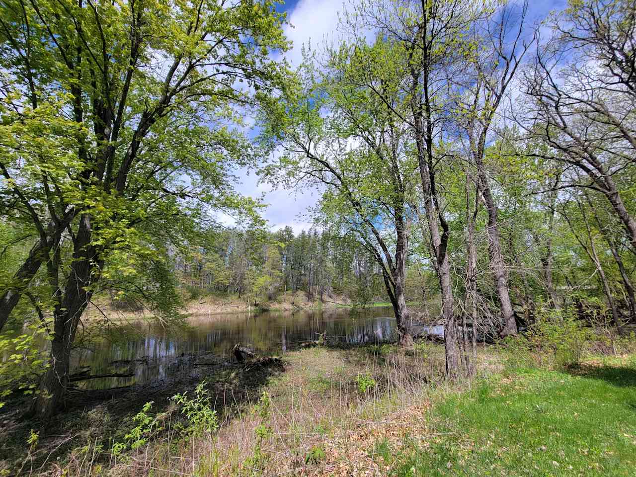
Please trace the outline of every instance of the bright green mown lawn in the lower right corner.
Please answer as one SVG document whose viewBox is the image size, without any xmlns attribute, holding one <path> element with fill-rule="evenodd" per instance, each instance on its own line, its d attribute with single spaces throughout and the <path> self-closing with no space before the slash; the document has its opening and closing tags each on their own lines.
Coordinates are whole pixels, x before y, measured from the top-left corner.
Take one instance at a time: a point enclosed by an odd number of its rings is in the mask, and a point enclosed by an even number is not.
<svg viewBox="0 0 636 477">
<path fill-rule="evenodd" d="M 636 366 L 520 371 L 431 409 L 397 476 L 636 476 Z"/>
</svg>

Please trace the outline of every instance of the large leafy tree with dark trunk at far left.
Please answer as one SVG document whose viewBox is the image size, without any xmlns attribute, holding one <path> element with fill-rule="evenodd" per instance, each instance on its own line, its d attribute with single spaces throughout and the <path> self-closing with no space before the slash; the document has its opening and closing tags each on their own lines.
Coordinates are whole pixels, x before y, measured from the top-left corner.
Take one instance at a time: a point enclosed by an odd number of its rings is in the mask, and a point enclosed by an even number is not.
<svg viewBox="0 0 636 477">
<path fill-rule="evenodd" d="M 208 209 L 254 210 L 228 180 L 253 153 L 226 123 L 284 85 L 268 52 L 287 45 L 267 0 L 15 0 L 0 17 L 3 198 L 38 234 L 2 316 L 46 265 L 52 350 L 34 411 L 48 417 L 113 253 L 157 259 L 153 237 L 178 242 Z"/>
</svg>

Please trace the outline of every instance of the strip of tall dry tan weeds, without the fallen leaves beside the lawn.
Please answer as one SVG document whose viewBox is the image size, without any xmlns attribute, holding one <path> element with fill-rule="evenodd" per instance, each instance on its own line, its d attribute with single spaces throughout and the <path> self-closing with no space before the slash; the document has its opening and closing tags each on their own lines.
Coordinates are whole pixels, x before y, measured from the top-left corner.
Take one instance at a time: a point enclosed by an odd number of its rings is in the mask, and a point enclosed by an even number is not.
<svg viewBox="0 0 636 477">
<path fill-rule="evenodd" d="M 362 423 L 382 420 L 422 396 L 443 366 L 443 348 L 435 345 L 427 353 L 405 354 L 394 345 L 315 347 L 284 359 L 286 371 L 270 378 L 259 392 L 268 403 L 266 417 L 261 401 L 241 406 L 236 418 L 213 436 L 179 443 L 166 436 L 133 453 L 132 459 L 116 462 L 114 473 L 144 469 L 156 477 L 247 476 L 317 470 L 334 453 L 333 445 L 324 443 L 334 441 L 343 429 L 364 429 Z"/>
</svg>

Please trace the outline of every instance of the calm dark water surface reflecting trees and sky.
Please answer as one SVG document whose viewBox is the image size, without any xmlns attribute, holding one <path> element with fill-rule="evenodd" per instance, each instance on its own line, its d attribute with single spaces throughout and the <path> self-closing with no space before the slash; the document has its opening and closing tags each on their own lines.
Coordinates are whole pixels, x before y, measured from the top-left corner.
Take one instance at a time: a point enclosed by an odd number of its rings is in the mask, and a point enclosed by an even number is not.
<svg viewBox="0 0 636 477">
<path fill-rule="evenodd" d="M 167 331 L 160 326 L 136 324 L 140 334 L 119 343 L 100 342 L 92 349 L 76 350 L 73 366 L 90 366 L 92 375 L 133 373 L 129 378 L 103 378 L 78 382 L 81 387 L 103 389 L 124 385 L 152 385 L 188 375 L 202 354 L 230 361 L 236 343 L 257 353 L 280 353 L 326 333 L 329 340 L 364 343 L 388 340 L 395 327 L 392 308 L 371 308 L 363 315 L 347 308 L 266 312 L 259 315 L 226 314 L 191 317 L 188 331 Z M 140 338 L 139 336 L 142 336 Z"/>
</svg>

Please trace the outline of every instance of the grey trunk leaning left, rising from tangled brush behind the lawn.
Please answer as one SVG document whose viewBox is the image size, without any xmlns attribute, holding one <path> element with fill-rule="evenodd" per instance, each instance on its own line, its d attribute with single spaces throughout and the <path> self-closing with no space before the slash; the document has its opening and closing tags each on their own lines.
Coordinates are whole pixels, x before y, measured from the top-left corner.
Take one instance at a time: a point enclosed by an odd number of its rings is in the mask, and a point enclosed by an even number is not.
<svg viewBox="0 0 636 477">
<path fill-rule="evenodd" d="M 490 192 L 490 185 L 483 169 L 480 170 L 480 188 L 481 197 L 483 197 L 488 212 L 488 252 L 490 254 L 490 265 L 495 275 L 495 289 L 499 297 L 501 305 L 501 317 L 503 319 L 503 328 L 499 333 L 500 336 L 509 336 L 517 334 L 517 326 L 515 314 L 513 313 L 513 305 L 510 301 L 510 293 L 508 288 L 508 269 L 504 264 L 504 257 L 501 252 L 501 237 L 499 235 L 499 225 L 497 223 L 497 206 Z"/>
</svg>

